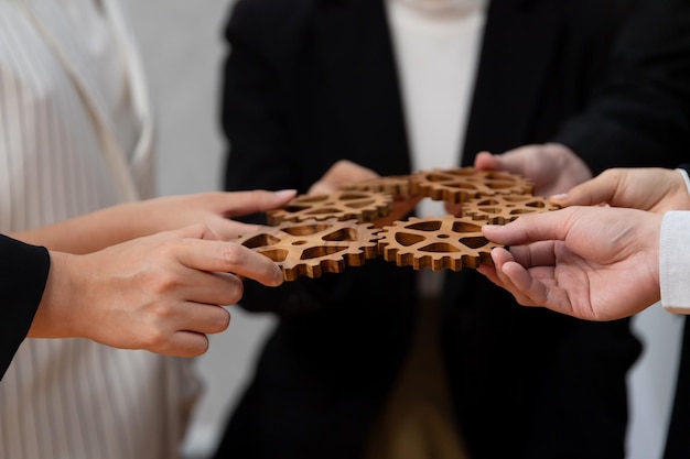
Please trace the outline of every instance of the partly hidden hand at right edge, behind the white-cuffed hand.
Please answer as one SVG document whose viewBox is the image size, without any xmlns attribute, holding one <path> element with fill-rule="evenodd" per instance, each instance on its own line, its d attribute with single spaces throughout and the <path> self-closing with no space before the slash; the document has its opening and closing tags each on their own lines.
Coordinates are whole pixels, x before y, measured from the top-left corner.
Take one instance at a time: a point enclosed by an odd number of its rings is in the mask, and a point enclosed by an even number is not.
<svg viewBox="0 0 690 459">
<path fill-rule="evenodd" d="M 568 194 L 552 196 L 551 201 L 561 207 L 607 204 L 658 214 L 690 210 L 690 194 L 682 175 L 658 167 L 606 170 Z"/>
</svg>

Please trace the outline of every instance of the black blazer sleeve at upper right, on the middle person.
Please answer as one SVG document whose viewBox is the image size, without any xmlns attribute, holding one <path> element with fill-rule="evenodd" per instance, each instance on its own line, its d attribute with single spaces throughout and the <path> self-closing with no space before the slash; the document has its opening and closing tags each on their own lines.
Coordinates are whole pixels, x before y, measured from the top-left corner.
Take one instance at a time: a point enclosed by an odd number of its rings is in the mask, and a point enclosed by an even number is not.
<svg viewBox="0 0 690 459">
<path fill-rule="evenodd" d="M 594 174 L 610 167 L 675 167 L 690 147 L 689 113 L 690 2 L 647 0 L 614 46 L 605 85 L 556 141 L 576 152 Z"/>
</svg>

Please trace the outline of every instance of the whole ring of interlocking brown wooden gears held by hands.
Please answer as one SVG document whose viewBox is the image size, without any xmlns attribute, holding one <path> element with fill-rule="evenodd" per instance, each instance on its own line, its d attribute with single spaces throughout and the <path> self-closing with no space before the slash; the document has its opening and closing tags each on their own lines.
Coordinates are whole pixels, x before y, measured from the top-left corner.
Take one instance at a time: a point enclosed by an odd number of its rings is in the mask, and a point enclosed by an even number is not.
<svg viewBox="0 0 690 459">
<path fill-rule="evenodd" d="M 331 195 L 298 196 L 268 212 L 276 227 L 239 242 L 278 263 L 287 281 L 339 273 L 378 255 L 414 270 L 460 271 L 492 263 L 492 249 L 500 247 L 484 238 L 483 225 L 558 209 L 531 190 L 532 183 L 519 175 L 473 167 L 379 177 L 346 184 Z M 462 203 L 463 217 L 410 218 L 373 228 L 370 221 L 392 210 L 395 197 L 413 195 Z"/>
</svg>

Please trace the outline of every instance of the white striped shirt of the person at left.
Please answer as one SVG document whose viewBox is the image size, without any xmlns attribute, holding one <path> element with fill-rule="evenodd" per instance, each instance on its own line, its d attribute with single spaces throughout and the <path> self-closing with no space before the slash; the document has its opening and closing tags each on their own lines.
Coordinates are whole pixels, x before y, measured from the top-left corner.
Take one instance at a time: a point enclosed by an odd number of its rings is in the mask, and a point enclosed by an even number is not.
<svg viewBox="0 0 690 459">
<path fill-rule="evenodd" d="M 149 194 L 137 58 L 114 0 L 0 0 L 0 231 Z M 176 458 L 197 389 L 190 360 L 25 340 L 0 381 L 0 459 Z"/>
</svg>

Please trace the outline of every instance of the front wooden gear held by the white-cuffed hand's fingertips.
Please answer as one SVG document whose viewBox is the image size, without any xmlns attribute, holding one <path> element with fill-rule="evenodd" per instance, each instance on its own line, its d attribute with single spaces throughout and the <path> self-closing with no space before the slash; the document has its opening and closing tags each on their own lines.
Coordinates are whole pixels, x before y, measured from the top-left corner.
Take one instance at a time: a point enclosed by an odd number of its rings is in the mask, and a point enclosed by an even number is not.
<svg viewBox="0 0 690 459">
<path fill-rule="evenodd" d="M 384 227 L 378 251 L 387 261 L 414 270 L 478 267 L 490 264 L 490 251 L 502 247 L 482 234 L 485 222 L 468 217 L 410 218 Z"/>
</svg>

